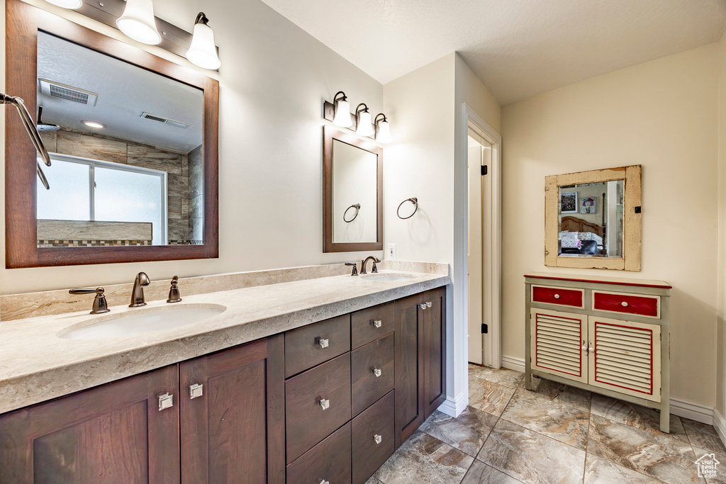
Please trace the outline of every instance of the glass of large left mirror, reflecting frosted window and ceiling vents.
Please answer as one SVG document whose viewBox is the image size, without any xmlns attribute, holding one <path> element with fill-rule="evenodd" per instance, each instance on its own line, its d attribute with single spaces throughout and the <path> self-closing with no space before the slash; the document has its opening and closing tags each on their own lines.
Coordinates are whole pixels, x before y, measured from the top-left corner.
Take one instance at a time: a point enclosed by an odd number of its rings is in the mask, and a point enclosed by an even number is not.
<svg viewBox="0 0 726 484">
<path fill-rule="evenodd" d="M 203 244 L 203 91 L 38 32 L 38 247 Z"/>
</svg>

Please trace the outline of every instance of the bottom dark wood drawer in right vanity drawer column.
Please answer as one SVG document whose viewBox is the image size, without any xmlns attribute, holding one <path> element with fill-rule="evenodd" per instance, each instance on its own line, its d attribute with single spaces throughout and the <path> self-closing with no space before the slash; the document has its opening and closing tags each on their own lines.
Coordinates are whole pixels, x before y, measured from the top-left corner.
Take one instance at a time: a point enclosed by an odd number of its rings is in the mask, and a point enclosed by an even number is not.
<svg viewBox="0 0 726 484">
<path fill-rule="evenodd" d="M 351 422 L 353 484 L 365 483 L 393 454 L 393 405 L 392 390 Z"/>
</svg>

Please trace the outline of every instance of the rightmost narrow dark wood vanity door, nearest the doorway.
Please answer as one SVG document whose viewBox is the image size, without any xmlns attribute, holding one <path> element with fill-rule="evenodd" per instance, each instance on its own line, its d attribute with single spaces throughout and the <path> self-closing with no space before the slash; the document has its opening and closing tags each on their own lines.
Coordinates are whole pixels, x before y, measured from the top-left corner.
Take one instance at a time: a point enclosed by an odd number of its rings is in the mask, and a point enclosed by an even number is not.
<svg viewBox="0 0 726 484">
<path fill-rule="evenodd" d="M 423 418 L 433 414 L 446 400 L 446 289 L 425 293 L 419 308 L 423 335 Z M 431 305 L 429 305 L 431 303 Z"/>
</svg>

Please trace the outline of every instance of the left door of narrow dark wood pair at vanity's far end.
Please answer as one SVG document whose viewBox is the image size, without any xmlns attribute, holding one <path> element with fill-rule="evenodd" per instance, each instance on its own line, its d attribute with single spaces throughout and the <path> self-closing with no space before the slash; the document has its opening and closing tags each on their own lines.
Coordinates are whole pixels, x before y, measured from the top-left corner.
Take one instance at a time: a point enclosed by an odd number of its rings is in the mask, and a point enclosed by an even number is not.
<svg viewBox="0 0 726 484">
<path fill-rule="evenodd" d="M 396 301 L 396 448 L 423 423 L 423 337 L 419 305 L 424 294 Z"/>
</svg>

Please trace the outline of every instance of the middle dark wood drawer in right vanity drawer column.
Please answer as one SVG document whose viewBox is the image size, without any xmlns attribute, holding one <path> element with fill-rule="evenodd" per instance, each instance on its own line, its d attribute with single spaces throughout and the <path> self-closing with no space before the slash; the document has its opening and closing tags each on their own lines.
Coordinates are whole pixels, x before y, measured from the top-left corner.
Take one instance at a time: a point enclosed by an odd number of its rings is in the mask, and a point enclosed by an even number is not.
<svg viewBox="0 0 726 484">
<path fill-rule="evenodd" d="M 361 413 L 391 390 L 393 333 L 351 351 L 352 414 L 356 416 Z"/>
</svg>

